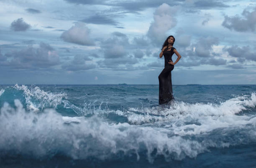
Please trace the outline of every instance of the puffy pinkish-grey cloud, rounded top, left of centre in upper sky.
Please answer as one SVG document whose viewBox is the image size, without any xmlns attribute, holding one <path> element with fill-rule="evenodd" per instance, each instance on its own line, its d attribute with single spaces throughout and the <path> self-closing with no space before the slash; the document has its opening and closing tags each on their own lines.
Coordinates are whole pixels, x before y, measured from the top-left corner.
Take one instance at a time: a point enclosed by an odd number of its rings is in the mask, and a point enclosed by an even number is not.
<svg viewBox="0 0 256 168">
<path fill-rule="evenodd" d="M 75 23 L 69 30 L 61 34 L 61 38 L 69 43 L 76 43 L 83 46 L 94 46 L 90 38 L 90 29 L 84 23 Z"/>
</svg>

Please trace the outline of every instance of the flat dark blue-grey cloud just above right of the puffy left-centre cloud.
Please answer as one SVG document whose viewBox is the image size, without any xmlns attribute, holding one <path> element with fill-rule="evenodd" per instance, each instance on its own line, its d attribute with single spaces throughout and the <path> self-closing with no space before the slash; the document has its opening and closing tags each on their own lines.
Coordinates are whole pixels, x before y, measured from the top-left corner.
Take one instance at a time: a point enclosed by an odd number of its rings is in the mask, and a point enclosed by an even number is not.
<svg viewBox="0 0 256 168">
<path fill-rule="evenodd" d="M 89 18 L 81 20 L 84 23 L 92 23 L 97 25 L 118 25 L 119 23 L 113 19 L 113 17 L 108 15 L 92 15 Z"/>
</svg>

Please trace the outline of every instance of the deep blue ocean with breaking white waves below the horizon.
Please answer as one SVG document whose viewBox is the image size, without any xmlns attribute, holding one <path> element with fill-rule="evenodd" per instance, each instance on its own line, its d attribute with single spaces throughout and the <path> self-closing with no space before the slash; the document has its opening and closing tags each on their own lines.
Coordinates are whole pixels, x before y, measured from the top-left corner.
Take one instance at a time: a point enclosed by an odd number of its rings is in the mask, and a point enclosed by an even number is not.
<svg viewBox="0 0 256 168">
<path fill-rule="evenodd" d="M 1 168 L 256 167 L 256 85 L 0 85 Z"/>
</svg>

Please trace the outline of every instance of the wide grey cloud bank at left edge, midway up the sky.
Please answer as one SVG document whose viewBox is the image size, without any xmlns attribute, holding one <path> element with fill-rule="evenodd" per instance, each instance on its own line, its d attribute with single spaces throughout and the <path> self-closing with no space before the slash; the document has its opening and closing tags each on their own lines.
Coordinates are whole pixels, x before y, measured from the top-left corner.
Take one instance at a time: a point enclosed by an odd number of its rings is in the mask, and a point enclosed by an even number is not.
<svg viewBox="0 0 256 168">
<path fill-rule="evenodd" d="M 12 69 L 49 68 L 60 64 L 59 55 L 49 44 L 40 43 L 39 48 L 28 46 L 22 50 L 13 50 L 5 54 L 8 60 L 1 62 L 2 66 Z"/>
</svg>

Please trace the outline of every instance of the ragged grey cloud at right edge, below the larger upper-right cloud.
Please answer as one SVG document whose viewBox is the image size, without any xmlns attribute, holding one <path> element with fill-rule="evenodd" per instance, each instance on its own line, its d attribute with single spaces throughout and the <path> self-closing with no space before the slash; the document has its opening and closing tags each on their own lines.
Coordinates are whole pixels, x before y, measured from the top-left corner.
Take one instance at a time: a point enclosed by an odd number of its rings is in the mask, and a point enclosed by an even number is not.
<svg viewBox="0 0 256 168">
<path fill-rule="evenodd" d="M 250 46 L 238 47 L 237 45 L 223 48 L 224 51 L 227 51 L 230 56 L 236 57 L 240 62 L 246 60 L 256 61 L 256 52 L 251 51 Z"/>
</svg>

